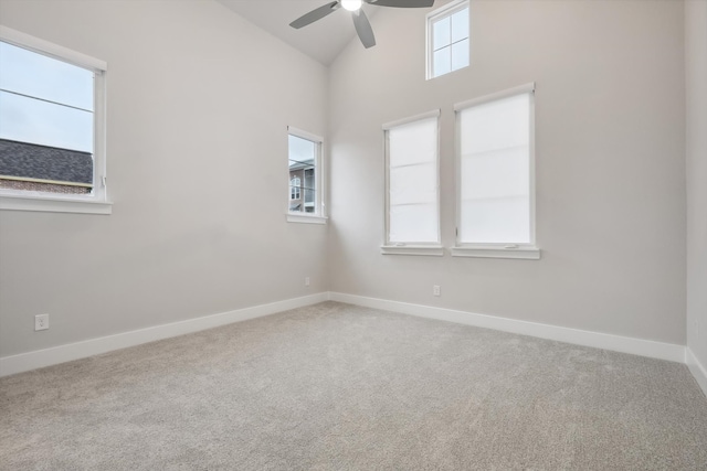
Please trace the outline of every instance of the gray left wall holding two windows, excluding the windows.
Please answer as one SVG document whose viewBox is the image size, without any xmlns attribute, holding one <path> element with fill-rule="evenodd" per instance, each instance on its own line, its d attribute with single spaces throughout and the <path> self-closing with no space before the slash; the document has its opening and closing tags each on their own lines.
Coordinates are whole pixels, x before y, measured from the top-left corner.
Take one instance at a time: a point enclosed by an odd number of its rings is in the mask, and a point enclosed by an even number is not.
<svg viewBox="0 0 707 471">
<path fill-rule="evenodd" d="M 115 202 L 0 211 L 0 356 L 328 288 L 327 227 L 285 220 L 286 127 L 326 132 L 324 66 L 213 1 L 2 0 L 0 19 L 107 61 Z"/>
</svg>

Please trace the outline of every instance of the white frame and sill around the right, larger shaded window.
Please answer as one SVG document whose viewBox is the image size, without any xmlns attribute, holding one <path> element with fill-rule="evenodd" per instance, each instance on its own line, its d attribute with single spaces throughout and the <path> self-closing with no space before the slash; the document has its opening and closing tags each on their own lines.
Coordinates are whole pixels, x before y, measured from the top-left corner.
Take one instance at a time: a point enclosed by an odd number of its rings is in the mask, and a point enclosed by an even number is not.
<svg viewBox="0 0 707 471">
<path fill-rule="evenodd" d="M 484 103 L 495 101 L 516 95 L 529 94 L 529 184 L 530 184 L 530 242 L 526 244 L 469 244 L 460 240 L 458 227 L 462 222 L 462 136 L 460 127 L 460 111 Z M 535 184 L 535 83 L 525 84 L 503 92 L 485 95 L 478 98 L 457 103 L 454 105 L 455 114 L 455 164 L 456 164 L 456 227 L 455 245 L 452 256 L 455 257 L 488 257 L 488 258 L 521 258 L 537 260 L 540 258 L 540 248 L 536 244 L 536 184 Z"/>
</svg>

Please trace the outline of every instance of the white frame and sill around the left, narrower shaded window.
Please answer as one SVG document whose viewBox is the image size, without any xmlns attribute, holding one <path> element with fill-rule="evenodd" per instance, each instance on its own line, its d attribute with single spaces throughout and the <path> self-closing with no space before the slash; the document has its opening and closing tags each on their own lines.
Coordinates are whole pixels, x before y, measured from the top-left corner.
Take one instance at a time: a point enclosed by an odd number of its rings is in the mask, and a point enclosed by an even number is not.
<svg viewBox="0 0 707 471">
<path fill-rule="evenodd" d="M 443 256 L 444 247 L 442 246 L 442 233 L 440 228 L 441 220 L 441 204 L 440 204 L 440 110 L 414 115 L 408 118 L 399 119 L 395 121 L 387 122 L 382 126 L 383 129 L 383 154 L 384 154 L 384 172 L 386 172 L 386 208 L 384 208 L 384 224 L 383 224 L 383 245 L 380 247 L 383 255 L 428 255 L 428 256 Z M 390 147 L 389 147 L 389 130 L 391 128 L 407 125 L 423 119 L 435 118 L 437 121 L 437 152 L 436 152 L 436 181 L 437 181 L 437 242 L 436 243 L 391 243 L 390 242 Z"/>
</svg>

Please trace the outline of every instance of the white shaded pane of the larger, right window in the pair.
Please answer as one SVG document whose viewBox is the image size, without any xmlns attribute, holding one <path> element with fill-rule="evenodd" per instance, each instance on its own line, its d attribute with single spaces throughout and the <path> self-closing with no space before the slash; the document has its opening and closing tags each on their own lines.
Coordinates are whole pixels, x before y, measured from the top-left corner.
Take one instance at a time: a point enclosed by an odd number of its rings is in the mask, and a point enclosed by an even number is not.
<svg viewBox="0 0 707 471">
<path fill-rule="evenodd" d="M 462 243 L 530 242 L 530 96 L 460 113 Z"/>
</svg>

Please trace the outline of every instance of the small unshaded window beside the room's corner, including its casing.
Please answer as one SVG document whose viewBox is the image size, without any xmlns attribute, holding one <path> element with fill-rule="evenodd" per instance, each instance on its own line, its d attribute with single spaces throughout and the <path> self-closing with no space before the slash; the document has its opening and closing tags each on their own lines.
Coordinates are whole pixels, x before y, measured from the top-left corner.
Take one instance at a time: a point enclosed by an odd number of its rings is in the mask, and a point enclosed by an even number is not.
<svg viewBox="0 0 707 471">
<path fill-rule="evenodd" d="M 288 128 L 289 222 L 326 222 L 321 195 L 321 142 L 320 137 Z"/>
</svg>

